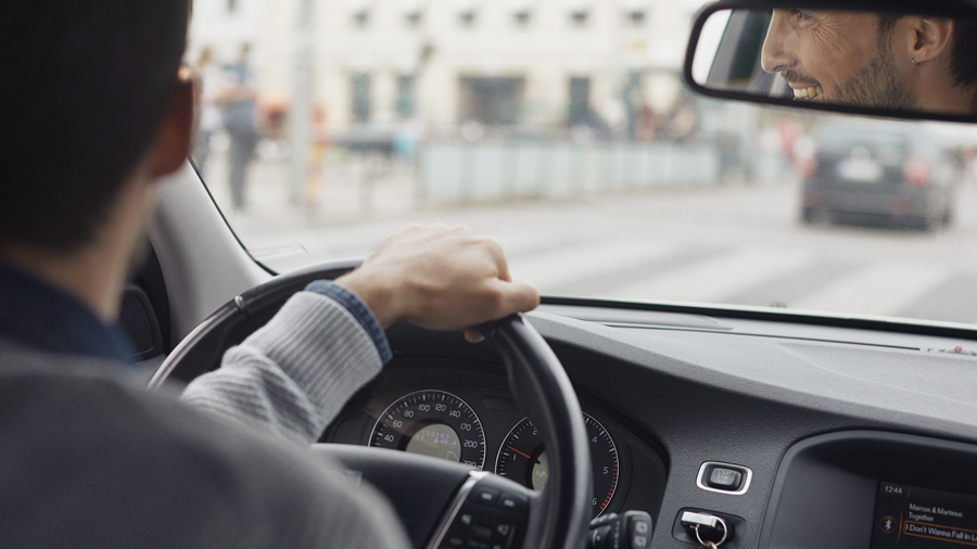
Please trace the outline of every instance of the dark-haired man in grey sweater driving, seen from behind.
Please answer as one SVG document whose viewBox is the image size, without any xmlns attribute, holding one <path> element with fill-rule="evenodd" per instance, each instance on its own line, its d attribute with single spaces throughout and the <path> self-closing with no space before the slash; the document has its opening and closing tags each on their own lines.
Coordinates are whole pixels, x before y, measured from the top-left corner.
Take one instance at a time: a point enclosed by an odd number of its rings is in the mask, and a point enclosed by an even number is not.
<svg viewBox="0 0 977 549">
<path fill-rule="evenodd" d="M 410 227 L 297 293 L 183 404 L 131 388 L 115 323 L 155 189 L 187 162 L 188 2 L 4 10 L 16 84 L 0 153 L 0 545 L 405 546 L 383 502 L 296 445 L 390 359 L 386 327 L 466 330 L 532 309 L 536 291 L 494 241 Z"/>
</svg>

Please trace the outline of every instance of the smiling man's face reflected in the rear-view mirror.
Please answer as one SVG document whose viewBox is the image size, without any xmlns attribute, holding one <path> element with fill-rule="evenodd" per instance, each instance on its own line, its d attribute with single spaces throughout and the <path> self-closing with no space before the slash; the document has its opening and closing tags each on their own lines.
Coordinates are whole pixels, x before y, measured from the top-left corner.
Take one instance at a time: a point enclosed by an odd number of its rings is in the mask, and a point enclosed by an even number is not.
<svg viewBox="0 0 977 549">
<path fill-rule="evenodd" d="M 761 62 L 799 101 L 973 113 L 975 86 L 954 72 L 953 31 L 937 17 L 781 9 Z"/>
</svg>

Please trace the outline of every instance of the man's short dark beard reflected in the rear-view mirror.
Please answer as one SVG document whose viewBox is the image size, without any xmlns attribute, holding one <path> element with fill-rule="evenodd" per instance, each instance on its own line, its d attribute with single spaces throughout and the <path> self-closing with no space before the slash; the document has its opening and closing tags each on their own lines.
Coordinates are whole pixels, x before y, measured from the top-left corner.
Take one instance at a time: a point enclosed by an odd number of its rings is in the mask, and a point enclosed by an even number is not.
<svg viewBox="0 0 977 549">
<path fill-rule="evenodd" d="M 873 108 L 915 110 L 916 98 L 899 79 L 896 61 L 884 48 L 837 89 L 835 102 Z"/>
</svg>

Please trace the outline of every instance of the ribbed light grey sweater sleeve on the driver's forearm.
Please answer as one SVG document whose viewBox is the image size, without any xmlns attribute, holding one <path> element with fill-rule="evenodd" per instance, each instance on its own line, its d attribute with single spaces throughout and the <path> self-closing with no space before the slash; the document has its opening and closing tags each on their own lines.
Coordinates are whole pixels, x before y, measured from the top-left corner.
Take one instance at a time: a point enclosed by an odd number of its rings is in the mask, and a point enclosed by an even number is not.
<svg viewBox="0 0 977 549">
<path fill-rule="evenodd" d="M 381 367 L 377 346 L 348 310 L 299 292 L 230 348 L 219 369 L 191 382 L 181 399 L 308 445 Z"/>
</svg>

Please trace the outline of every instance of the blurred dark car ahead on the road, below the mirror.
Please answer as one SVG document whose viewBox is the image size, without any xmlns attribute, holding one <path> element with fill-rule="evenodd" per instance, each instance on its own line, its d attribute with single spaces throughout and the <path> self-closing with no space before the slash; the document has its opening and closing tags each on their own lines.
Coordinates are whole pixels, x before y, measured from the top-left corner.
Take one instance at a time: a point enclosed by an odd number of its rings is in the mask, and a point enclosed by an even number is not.
<svg viewBox="0 0 977 549">
<path fill-rule="evenodd" d="M 837 120 L 802 163 L 801 219 L 918 229 L 953 217 L 954 159 L 921 125 Z"/>
</svg>

